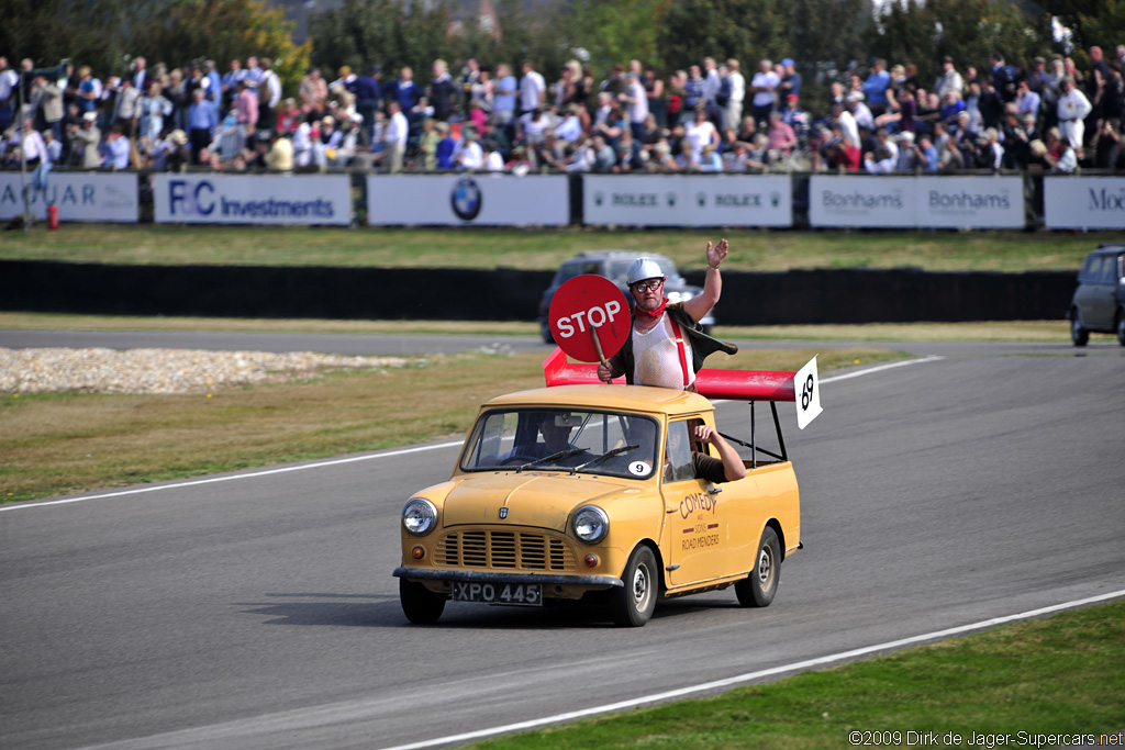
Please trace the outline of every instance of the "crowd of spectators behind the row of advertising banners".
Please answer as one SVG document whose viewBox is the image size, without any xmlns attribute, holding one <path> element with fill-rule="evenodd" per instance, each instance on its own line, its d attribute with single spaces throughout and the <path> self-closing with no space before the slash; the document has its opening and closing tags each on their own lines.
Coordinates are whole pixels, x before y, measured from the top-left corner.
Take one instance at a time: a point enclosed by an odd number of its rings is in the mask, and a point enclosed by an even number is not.
<svg viewBox="0 0 1125 750">
<path fill-rule="evenodd" d="M 932 83 L 875 60 L 802 106 L 793 60 L 708 57 L 660 76 L 639 61 L 596 80 L 572 61 L 548 82 L 525 61 L 410 67 L 313 67 L 285 98 L 269 58 L 169 70 L 143 57 L 101 80 L 64 61 L 9 67 L 0 56 L 0 164 L 72 169 L 561 172 L 961 172 L 1080 165 L 1125 169 L 1125 45 L 1107 58 L 978 69 L 945 58 Z M 331 80 L 330 80 L 331 79 Z"/>
</svg>

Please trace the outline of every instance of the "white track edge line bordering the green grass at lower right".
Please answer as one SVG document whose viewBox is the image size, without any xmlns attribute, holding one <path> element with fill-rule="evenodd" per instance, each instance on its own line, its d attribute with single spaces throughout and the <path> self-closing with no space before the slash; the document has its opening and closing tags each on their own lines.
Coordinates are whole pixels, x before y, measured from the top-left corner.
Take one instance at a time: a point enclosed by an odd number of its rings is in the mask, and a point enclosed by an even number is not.
<svg viewBox="0 0 1125 750">
<path fill-rule="evenodd" d="M 668 701 L 670 698 L 680 698 L 683 696 L 692 695 L 694 693 L 703 693 L 706 690 L 714 690 L 718 688 L 732 687 L 741 683 L 750 683 L 753 680 L 763 679 L 765 677 L 776 677 L 777 675 L 783 675 L 791 671 L 800 671 L 806 669 L 812 669 L 814 667 L 824 667 L 827 665 L 836 663 L 839 661 L 847 661 L 849 659 L 855 659 L 857 657 L 865 657 L 872 653 L 878 653 L 879 651 L 889 651 L 901 649 L 907 645 L 916 645 L 918 643 L 924 643 L 926 641 L 937 641 L 953 635 L 960 635 L 962 633 L 969 633 L 975 630 L 982 630 L 986 627 L 994 627 L 997 625 L 1005 625 L 1011 622 L 1020 620 L 1030 620 L 1033 617 L 1038 617 L 1041 615 L 1052 614 L 1055 612 L 1062 612 L 1064 609 L 1073 609 L 1077 607 L 1087 606 L 1090 604 L 1097 604 L 1099 602 L 1106 602 L 1109 599 L 1116 599 L 1125 597 L 1125 589 L 1110 591 L 1108 594 L 1100 594 L 1098 596 L 1087 597 L 1084 599 L 1076 599 L 1072 602 L 1064 602 L 1063 604 L 1054 604 L 1047 607 L 1041 607 L 1038 609 L 1029 609 L 1027 612 L 1020 612 L 1014 615 L 1004 615 L 1001 617 L 992 617 L 991 620 L 983 620 L 976 623 L 970 623 L 968 625 L 958 625 L 957 627 L 950 627 L 946 630 L 935 631 L 933 633 L 922 633 L 921 635 L 912 635 L 910 638 L 899 639 L 897 641 L 888 641 L 886 643 L 879 643 L 875 645 L 866 645 L 860 649 L 852 649 L 850 651 L 842 651 L 839 653 L 832 653 L 825 657 L 818 657 L 816 659 L 807 659 L 804 661 L 798 661 L 791 665 L 784 665 L 781 667 L 773 667 L 771 669 L 760 669 L 758 671 L 746 672 L 744 675 L 736 675 L 735 677 L 728 677 L 724 679 L 712 680 L 710 683 L 701 683 L 699 685 L 691 685 L 687 687 L 682 687 L 675 690 L 667 690 L 665 693 L 654 693 L 652 695 L 646 695 L 638 698 L 630 698 L 628 701 L 620 701 L 618 703 L 610 703 L 603 706 L 593 706 L 591 708 L 583 708 L 580 711 L 572 711 L 564 714 L 556 714 L 554 716 L 544 716 L 542 719 L 532 719 L 525 722 L 516 722 L 514 724 L 505 724 L 503 726 L 493 726 L 490 729 L 477 730 L 474 732 L 465 732 L 462 734 L 451 734 L 449 737 L 436 738 L 433 740 L 423 740 L 421 742 L 412 742 L 411 744 L 398 744 L 384 750 L 421 750 L 422 748 L 433 748 L 441 744 L 450 744 L 454 742 L 466 742 L 468 740 L 479 740 L 486 737 L 494 737 L 496 734 L 506 734 L 511 732 L 521 732 L 530 729 L 537 729 L 540 726 L 546 726 L 548 724 L 557 724 L 562 722 L 574 721 L 576 719 L 585 719 L 587 716 L 596 716 L 598 714 L 606 714 L 616 711 L 623 711 L 626 708 L 636 708 L 637 706 L 645 705 L 647 703 L 656 703 L 662 701 Z"/>
</svg>

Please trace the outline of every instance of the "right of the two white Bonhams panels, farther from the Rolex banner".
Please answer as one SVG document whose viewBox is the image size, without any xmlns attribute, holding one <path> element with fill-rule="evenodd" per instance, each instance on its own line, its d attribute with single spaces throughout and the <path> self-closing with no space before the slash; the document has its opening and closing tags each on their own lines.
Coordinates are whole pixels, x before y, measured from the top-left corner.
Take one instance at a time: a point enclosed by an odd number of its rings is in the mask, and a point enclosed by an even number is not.
<svg viewBox="0 0 1125 750">
<path fill-rule="evenodd" d="M 1019 175 L 915 179 L 920 228 L 1024 228 L 1024 178 Z"/>
</svg>

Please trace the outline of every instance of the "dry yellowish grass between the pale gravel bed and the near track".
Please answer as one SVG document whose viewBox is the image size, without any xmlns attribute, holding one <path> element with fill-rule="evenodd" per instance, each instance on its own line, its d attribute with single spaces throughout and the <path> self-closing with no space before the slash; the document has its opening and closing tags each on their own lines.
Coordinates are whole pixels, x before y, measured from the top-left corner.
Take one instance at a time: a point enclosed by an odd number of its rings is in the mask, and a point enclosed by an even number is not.
<svg viewBox="0 0 1125 750">
<path fill-rule="evenodd" d="M 816 352 L 717 355 L 709 367 L 796 370 Z M 901 356 L 821 352 L 820 368 Z M 476 352 L 210 396 L 0 396 L 0 501 L 460 439 L 482 401 L 542 386 L 541 354 Z"/>
</svg>

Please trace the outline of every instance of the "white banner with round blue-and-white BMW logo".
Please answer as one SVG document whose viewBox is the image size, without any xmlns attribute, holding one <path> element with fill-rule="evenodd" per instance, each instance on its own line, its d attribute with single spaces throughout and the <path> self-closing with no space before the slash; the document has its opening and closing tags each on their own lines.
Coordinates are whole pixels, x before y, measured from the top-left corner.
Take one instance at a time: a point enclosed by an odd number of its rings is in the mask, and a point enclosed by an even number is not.
<svg viewBox="0 0 1125 750">
<path fill-rule="evenodd" d="M 374 226 L 566 226 L 564 174 L 372 174 L 367 222 Z"/>
</svg>

